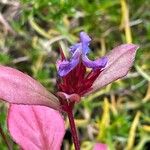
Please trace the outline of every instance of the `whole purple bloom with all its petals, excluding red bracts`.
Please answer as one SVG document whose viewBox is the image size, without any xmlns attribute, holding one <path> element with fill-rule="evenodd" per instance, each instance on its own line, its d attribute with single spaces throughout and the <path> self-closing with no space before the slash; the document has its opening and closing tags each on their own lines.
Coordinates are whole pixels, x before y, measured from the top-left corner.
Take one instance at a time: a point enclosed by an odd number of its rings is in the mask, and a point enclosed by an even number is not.
<svg viewBox="0 0 150 150">
<path fill-rule="evenodd" d="M 94 70 L 102 69 L 107 64 L 107 57 L 103 57 L 97 59 L 95 61 L 91 61 L 88 59 L 87 54 L 90 51 L 89 44 L 91 38 L 85 33 L 80 33 L 80 43 L 77 43 L 70 47 L 70 52 L 72 57 L 70 60 L 63 60 L 61 63 L 58 64 L 58 74 L 63 77 L 66 76 L 71 70 L 73 70 L 79 63 L 82 63 Z"/>
</svg>

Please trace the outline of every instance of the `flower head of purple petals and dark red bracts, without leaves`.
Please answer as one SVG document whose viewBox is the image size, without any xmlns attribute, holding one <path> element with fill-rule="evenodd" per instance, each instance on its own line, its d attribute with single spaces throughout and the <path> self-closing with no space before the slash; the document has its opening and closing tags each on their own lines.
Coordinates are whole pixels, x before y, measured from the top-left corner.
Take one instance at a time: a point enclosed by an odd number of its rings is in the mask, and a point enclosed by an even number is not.
<svg viewBox="0 0 150 150">
<path fill-rule="evenodd" d="M 72 57 L 70 61 L 66 59 L 59 60 L 57 63 L 58 89 L 67 94 L 76 93 L 83 96 L 87 93 L 95 79 L 107 64 L 107 57 L 102 57 L 95 61 L 88 59 L 87 54 L 90 51 L 90 37 L 85 33 L 80 33 L 80 43 L 70 47 Z M 90 73 L 86 73 L 86 68 L 91 68 Z"/>
</svg>

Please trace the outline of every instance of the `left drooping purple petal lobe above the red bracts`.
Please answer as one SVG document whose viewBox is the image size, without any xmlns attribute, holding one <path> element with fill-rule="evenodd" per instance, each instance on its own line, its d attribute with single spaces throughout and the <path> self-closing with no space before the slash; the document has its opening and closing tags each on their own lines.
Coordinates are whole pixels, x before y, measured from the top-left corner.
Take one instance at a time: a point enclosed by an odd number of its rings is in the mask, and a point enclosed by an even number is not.
<svg viewBox="0 0 150 150">
<path fill-rule="evenodd" d="M 60 76 L 67 75 L 72 69 L 74 69 L 80 60 L 81 52 L 79 50 L 76 50 L 71 58 L 70 61 L 62 61 L 59 63 L 58 67 L 58 74 Z"/>
</svg>

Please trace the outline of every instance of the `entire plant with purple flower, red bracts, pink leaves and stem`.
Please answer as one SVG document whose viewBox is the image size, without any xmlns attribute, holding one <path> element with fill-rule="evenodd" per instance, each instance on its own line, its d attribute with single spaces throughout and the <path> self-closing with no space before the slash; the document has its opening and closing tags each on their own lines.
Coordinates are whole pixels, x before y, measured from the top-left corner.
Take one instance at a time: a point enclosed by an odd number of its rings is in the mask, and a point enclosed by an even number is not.
<svg viewBox="0 0 150 150">
<path fill-rule="evenodd" d="M 23 149 L 26 150 L 28 145 L 28 149 L 44 150 L 45 144 L 54 150 L 60 149 L 65 129 L 62 116 L 57 111 L 65 111 L 70 120 L 75 149 L 79 150 L 72 115 L 75 102 L 79 102 L 81 96 L 125 76 L 129 71 L 138 48 L 136 45 L 123 44 L 105 57 L 91 61 L 87 57 L 90 41 L 89 36 L 81 32 L 80 43 L 70 47 L 71 59 L 67 60 L 62 52 L 62 58 L 57 62 L 59 77 L 55 95 L 30 76 L 0 66 L 0 99 L 11 104 L 8 128 Z M 89 73 L 87 68 L 91 68 Z"/>
</svg>

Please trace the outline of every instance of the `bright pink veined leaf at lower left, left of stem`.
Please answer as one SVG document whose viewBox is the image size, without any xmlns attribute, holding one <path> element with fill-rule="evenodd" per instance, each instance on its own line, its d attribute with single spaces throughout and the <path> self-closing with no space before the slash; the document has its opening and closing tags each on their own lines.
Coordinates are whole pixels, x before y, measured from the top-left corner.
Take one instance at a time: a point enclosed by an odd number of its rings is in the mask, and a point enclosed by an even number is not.
<svg viewBox="0 0 150 150">
<path fill-rule="evenodd" d="M 60 150 L 64 120 L 51 108 L 12 104 L 7 124 L 11 136 L 24 150 Z"/>
</svg>

